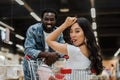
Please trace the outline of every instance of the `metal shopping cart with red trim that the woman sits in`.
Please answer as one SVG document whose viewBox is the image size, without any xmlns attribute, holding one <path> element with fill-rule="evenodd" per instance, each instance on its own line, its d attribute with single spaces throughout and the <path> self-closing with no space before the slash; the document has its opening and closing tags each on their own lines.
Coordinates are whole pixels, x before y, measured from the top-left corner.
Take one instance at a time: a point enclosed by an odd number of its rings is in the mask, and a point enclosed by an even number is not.
<svg viewBox="0 0 120 80">
<path fill-rule="evenodd" d="M 37 64 L 34 64 L 37 63 Z M 91 71 L 89 69 L 66 69 L 62 68 L 54 72 L 54 67 L 49 67 L 42 61 L 32 61 L 28 58 L 28 64 L 31 74 L 31 80 L 90 80 L 92 79 Z M 37 65 L 37 71 L 34 71 L 34 65 Z M 36 75 L 37 74 L 37 75 Z"/>
</svg>

